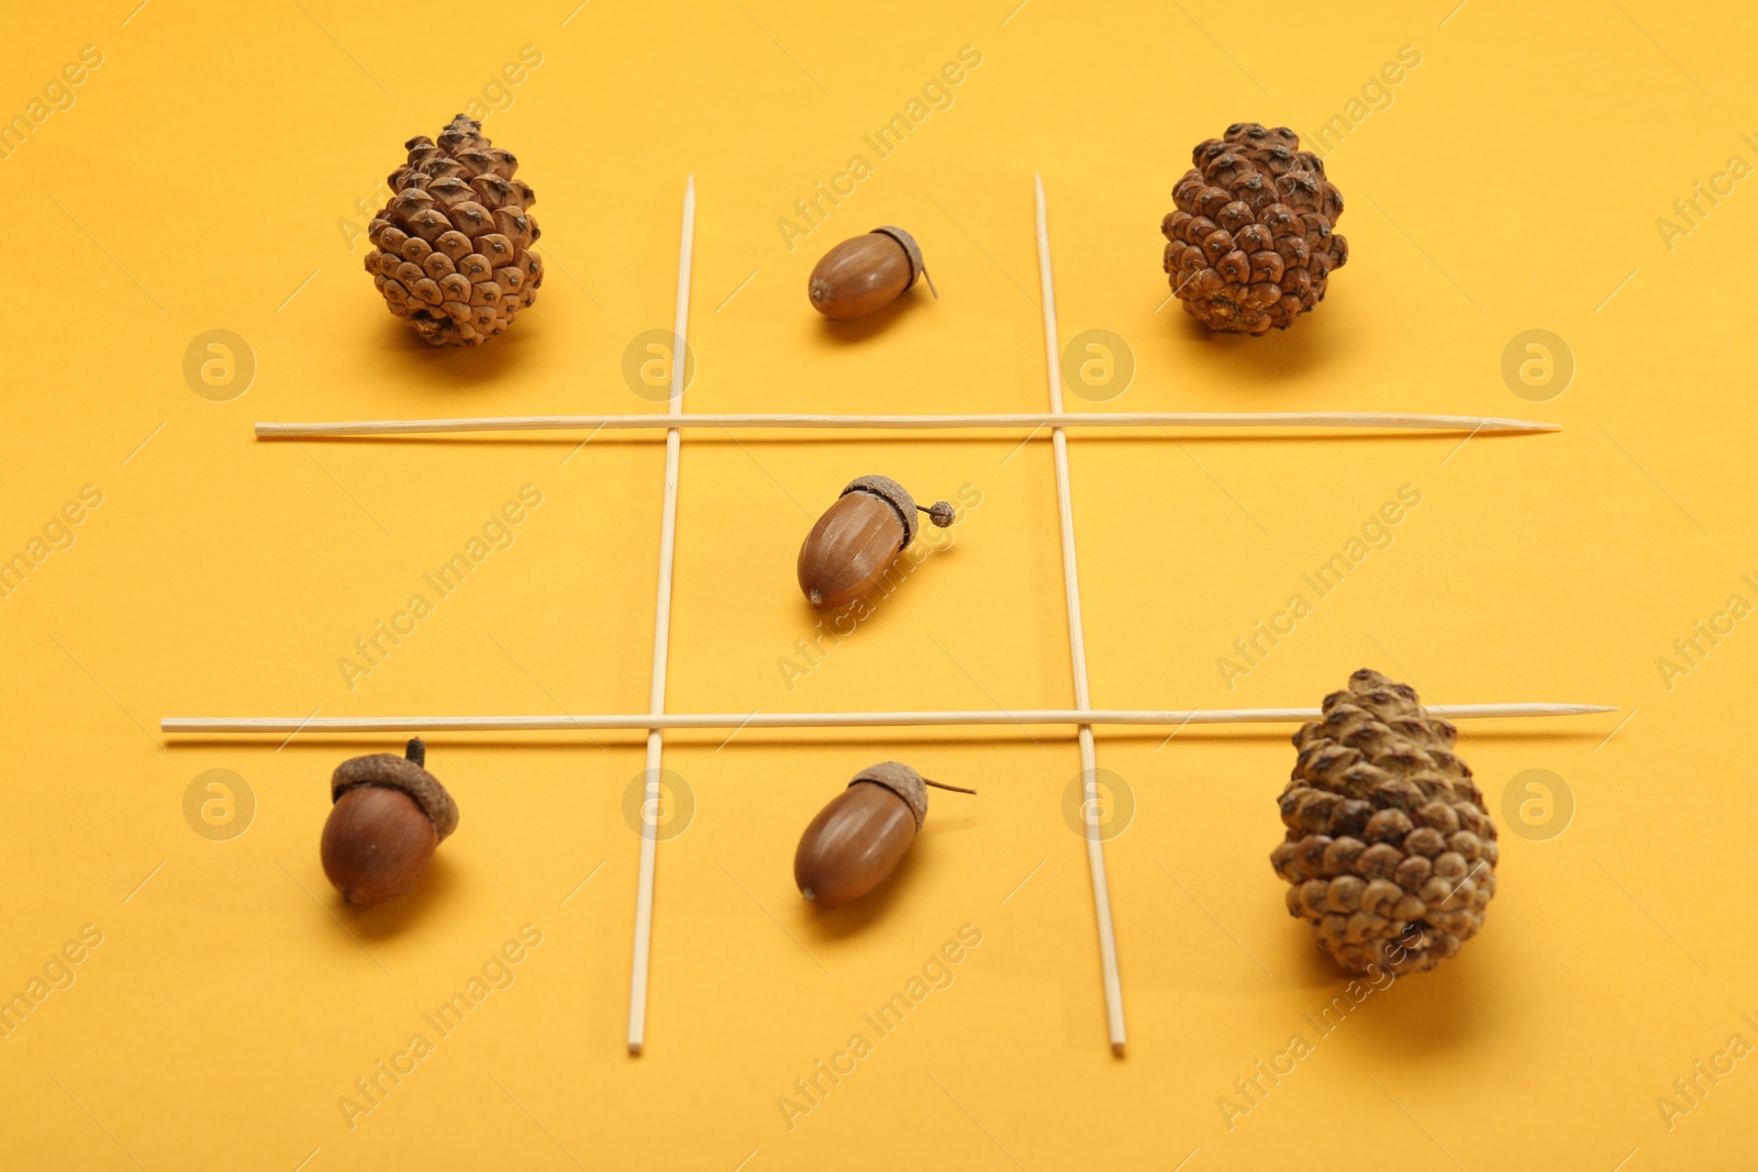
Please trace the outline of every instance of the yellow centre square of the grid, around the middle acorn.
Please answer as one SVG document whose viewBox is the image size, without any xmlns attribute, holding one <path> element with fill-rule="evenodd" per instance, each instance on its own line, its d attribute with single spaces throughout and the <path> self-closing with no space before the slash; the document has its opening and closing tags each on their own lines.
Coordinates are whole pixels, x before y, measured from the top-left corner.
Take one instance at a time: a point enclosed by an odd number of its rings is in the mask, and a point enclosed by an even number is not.
<svg viewBox="0 0 1758 1172">
<path fill-rule="evenodd" d="M 673 613 L 675 712 L 870 712 L 1064 706 L 1067 636 L 1048 445 L 686 438 Z M 800 543 L 858 474 L 918 501 L 962 503 L 923 525 L 897 585 L 821 611 L 795 576 Z M 761 518 L 761 524 L 749 524 Z M 784 524 L 777 524 L 784 518 Z M 995 597 L 1025 601 L 1006 626 Z M 883 738 L 886 733 L 875 729 Z"/>
</svg>

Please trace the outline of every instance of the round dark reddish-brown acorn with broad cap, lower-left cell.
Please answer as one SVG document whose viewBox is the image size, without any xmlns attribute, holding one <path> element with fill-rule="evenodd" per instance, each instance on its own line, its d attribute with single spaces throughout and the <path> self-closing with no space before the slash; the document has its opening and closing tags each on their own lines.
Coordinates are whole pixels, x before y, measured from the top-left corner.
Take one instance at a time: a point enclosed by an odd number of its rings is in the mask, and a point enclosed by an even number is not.
<svg viewBox="0 0 1758 1172">
<path fill-rule="evenodd" d="M 352 757 L 331 775 L 336 805 L 318 854 L 343 903 L 403 894 L 427 873 L 434 847 L 457 829 L 457 803 L 425 764 L 427 747 L 417 736 L 403 757 Z"/>
</svg>

